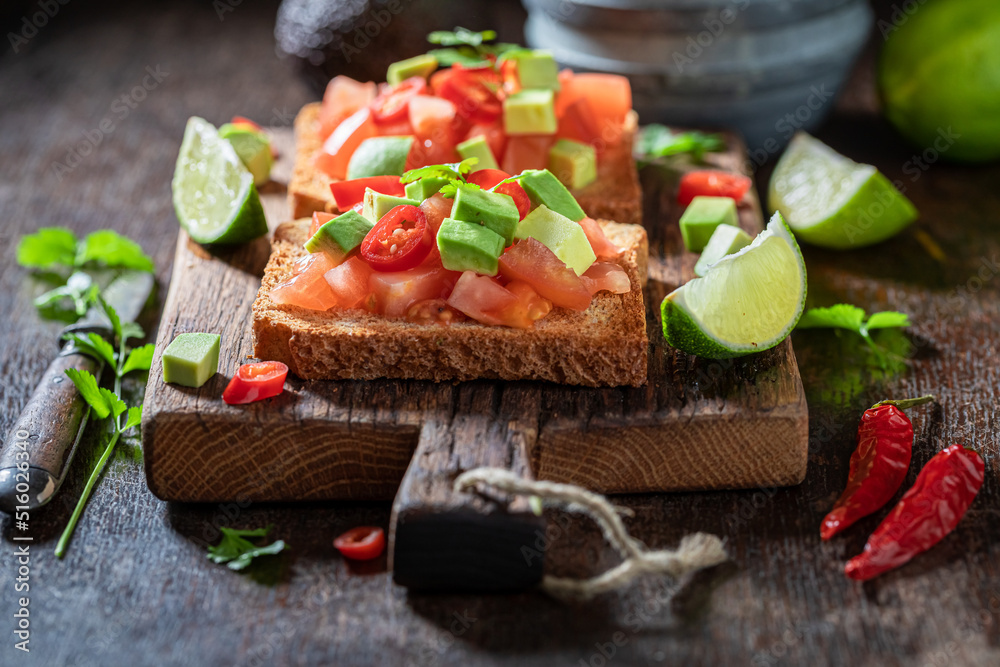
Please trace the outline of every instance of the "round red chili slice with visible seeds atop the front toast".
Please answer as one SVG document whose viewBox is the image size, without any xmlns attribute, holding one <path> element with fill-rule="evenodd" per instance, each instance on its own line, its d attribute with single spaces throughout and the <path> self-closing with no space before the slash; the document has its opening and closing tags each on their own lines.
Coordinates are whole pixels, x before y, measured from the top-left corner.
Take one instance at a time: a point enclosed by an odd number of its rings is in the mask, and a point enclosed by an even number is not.
<svg viewBox="0 0 1000 667">
<path fill-rule="evenodd" d="M 376 271 L 405 271 L 419 264 L 434 245 L 427 216 L 416 206 L 397 206 L 361 242 L 361 257 Z"/>
</svg>

